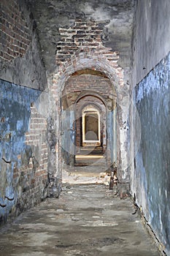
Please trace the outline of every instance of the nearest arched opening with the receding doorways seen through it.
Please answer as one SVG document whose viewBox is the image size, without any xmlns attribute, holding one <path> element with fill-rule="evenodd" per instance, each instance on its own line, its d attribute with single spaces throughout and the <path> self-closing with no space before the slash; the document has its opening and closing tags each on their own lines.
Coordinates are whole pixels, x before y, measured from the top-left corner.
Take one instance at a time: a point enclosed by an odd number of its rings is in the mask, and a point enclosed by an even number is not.
<svg viewBox="0 0 170 256">
<path fill-rule="evenodd" d="M 67 80 L 62 97 L 62 157 L 67 165 L 77 166 L 80 155 L 94 153 L 106 160 L 104 170 L 116 162 L 116 97 L 110 95 L 115 95 L 112 84 L 100 72 L 82 70 Z"/>
</svg>

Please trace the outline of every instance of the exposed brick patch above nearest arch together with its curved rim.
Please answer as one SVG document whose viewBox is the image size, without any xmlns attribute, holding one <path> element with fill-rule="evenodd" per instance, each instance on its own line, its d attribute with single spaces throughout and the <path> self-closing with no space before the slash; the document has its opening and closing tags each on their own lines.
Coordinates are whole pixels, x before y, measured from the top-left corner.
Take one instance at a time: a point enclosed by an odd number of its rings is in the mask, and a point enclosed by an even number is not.
<svg viewBox="0 0 170 256">
<path fill-rule="evenodd" d="M 103 73 L 117 92 L 123 86 L 123 69 L 117 64 L 119 53 L 104 47 L 101 40 L 104 25 L 106 22 L 76 20 L 69 29 L 60 29 L 61 40 L 55 55 L 58 72 L 54 75 L 51 88 L 54 97 L 58 89 L 63 90 L 72 74 L 83 69 Z"/>
</svg>

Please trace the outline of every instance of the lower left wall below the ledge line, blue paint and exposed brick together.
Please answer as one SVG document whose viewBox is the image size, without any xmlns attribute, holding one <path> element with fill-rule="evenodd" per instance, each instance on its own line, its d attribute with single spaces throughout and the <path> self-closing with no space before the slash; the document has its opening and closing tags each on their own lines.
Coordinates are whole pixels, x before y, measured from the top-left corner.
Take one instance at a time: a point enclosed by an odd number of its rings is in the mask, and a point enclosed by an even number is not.
<svg viewBox="0 0 170 256">
<path fill-rule="evenodd" d="M 41 91 L 3 80 L 0 87 L 0 223 L 3 223 L 47 196 L 47 121 L 38 110 Z"/>
</svg>

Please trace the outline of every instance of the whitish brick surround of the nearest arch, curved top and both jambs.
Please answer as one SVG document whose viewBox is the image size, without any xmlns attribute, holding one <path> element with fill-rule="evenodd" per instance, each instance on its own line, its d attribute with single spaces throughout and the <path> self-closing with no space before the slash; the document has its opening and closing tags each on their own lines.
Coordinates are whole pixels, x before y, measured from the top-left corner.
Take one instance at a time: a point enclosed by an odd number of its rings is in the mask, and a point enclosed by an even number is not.
<svg viewBox="0 0 170 256">
<path fill-rule="evenodd" d="M 53 86 L 50 87 L 50 94 L 53 97 L 53 105 L 55 106 L 55 112 L 61 112 L 61 99 L 62 92 L 64 86 L 66 85 L 67 80 L 75 73 L 79 72 L 82 69 L 91 69 L 93 71 L 101 72 L 105 77 L 109 78 L 110 83 L 112 84 L 113 91 L 115 94 L 112 97 L 117 99 L 117 105 L 120 108 L 117 109 L 117 165 L 120 180 L 127 180 L 128 171 L 122 171 L 123 161 L 125 162 L 125 155 L 123 151 L 125 151 L 125 143 L 123 141 L 126 140 L 125 136 L 121 135 L 120 127 L 123 126 L 123 119 L 127 119 L 127 116 L 123 116 L 123 111 L 121 109 L 121 95 L 123 94 L 123 69 L 118 66 L 118 53 L 112 52 L 110 49 L 101 47 L 96 50 L 85 50 L 85 48 L 80 48 L 76 53 L 72 56 L 67 63 L 61 63 L 58 67 L 58 72 L 53 76 Z M 61 130 L 61 121 L 59 120 L 60 115 L 55 118 L 55 132 L 56 134 L 60 134 Z M 120 145 L 121 140 L 121 145 Z M 56 149 L 56 176 L 59 176 L 59 180 L 61 179 L 61 171 L 62 171 L 62 160 L 61 160 L 61 138 L 58 136 L 58 143 L 55 146 Z M 123 149 L 123 151 L 122 151 Z M 125 185 L 126 186 L 126 185 Z M 127 186 L 126 186 L 127 187 Z M 125 189 L 126 191 L 127 189 Z"/>
</svg>

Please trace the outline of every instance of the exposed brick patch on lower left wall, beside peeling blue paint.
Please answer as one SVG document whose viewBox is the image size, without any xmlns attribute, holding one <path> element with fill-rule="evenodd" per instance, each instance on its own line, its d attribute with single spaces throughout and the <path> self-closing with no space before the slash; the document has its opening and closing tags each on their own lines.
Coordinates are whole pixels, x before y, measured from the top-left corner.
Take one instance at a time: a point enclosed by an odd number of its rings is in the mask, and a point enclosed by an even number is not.
<svg viewBox="0 0 170 256">
<path fill-rule="evenodd" d="M 26 132 L 26 145 L 31 147 L 29 162 L 13 170 L 13 182 L 15 186 L 21 187 L 22 192 L 18 195 L 17 211 L 26 210 L 30 206 L 39 203 L 43 191 L 47 187 L 47 143 L 46 143 L 47 121 L 36 110 L 31 103 L 31 117 L 29 130 Z M 39 148 L 39 154 L 36 153 Z M 36 157 L 35 157 L 35 156 Z M 18 159 L 22 156 L 18 155 Z M 19 212 L 20 213 L 20 212 Z"/>
</svg>

